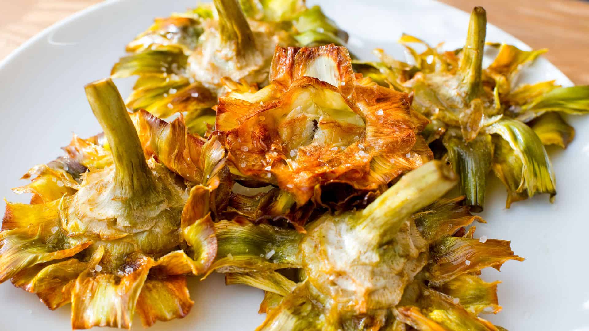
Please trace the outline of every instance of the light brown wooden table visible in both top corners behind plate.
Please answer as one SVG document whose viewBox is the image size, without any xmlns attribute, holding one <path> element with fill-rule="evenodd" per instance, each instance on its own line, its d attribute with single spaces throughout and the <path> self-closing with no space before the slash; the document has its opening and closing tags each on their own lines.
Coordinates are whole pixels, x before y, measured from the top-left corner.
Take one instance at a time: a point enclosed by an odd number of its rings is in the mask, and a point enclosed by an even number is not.
<svg viewBox="0 0 589 331">
<path fill-rule="evenodd" d="M 465 11 L 487 9 L 488 21 L 546 55 L 576 84 L 589 84 L 589 2 L 580 0 L 442 0 Z M 100 0 L 3 1 L 0 59 L 54 22 Z M 195 1 L 195 4 L 198 1 Z"/>
</svg>

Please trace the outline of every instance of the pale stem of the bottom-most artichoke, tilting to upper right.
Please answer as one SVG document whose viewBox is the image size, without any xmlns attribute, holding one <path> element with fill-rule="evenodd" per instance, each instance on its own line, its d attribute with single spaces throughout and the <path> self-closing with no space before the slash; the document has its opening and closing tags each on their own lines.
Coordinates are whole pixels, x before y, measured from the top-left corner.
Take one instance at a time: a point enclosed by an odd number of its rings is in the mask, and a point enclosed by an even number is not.
<svg viewBox="0 0 589 331">
<path fill-rule="evenodd" d="M 431 161 L 405 174 L 395 185 L 368 205 L 358 227 L 380 241 L 391 239 L 403 221 L 428 206 L 456 185 L 457 177 L 441 161 Z"/>
</svg>

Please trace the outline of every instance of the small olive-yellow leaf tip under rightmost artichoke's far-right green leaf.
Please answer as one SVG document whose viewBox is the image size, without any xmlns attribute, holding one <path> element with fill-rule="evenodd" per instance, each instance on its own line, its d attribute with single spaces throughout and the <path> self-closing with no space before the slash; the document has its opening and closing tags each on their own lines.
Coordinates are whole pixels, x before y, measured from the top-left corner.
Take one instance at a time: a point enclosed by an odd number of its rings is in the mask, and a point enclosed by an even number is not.
<svg viewBox="0 0 589 331">
<path fill-rule="evenodd" d="M 544 145 L 567 148 L 575 137 L 575 129 L 558 112 L 547 112 L 530 123 Z"/>
</svg>

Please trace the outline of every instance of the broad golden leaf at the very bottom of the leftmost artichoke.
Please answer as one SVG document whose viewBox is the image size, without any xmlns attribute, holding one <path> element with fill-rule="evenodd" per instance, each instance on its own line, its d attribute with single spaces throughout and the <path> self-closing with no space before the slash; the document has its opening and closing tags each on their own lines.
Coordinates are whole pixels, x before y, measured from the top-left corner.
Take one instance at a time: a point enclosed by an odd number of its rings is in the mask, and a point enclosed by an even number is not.
<svg viewBox="0 0 589 331">
<path fill-rule="evenodd" d="M 72 328 L 92 326 L 131 328 L 135 304 L 153 260 L 134 256 L 123 276 L 87 269 L 78 276 L 72 292 Z M 133 270 L 133 271 L 131 271 Z"/>
</svg>

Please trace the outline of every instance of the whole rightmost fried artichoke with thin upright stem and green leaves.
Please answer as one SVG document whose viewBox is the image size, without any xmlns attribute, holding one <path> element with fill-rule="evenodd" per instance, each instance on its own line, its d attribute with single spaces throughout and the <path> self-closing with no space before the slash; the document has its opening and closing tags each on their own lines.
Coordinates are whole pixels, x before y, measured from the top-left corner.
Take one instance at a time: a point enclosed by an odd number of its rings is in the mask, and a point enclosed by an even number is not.
<svg viewBox="0 0 589 331">
<path fill-rule="evenodd" d="M 464 48 L 441 51 L 403 35 L 413 65 L 381 49 L 380 62 L 356 62 L 355 69 L 379 84 L 412 93 L 413 107 L 432 120 L 425 129 L 434 154 L 459 174 L 461 193 L 473 211 L 485 202 L 487 174 L 507 187 L 507 207 L 536 193 L 556 194 L 554 171 L 544 144 L 566 147 L 574 129 L 561 114 L 589 112 L 589 86 L 560 87 L 554 81 L 517 86 L 517 75 L 545 49 L 522 51 L 502 44 L 482 68 L 487 18 L 472 11 Z M 421 54 L 406 44 L 422 44 Z M 497 47 L 497 44 L 490 44 Z"/>
</svg>

